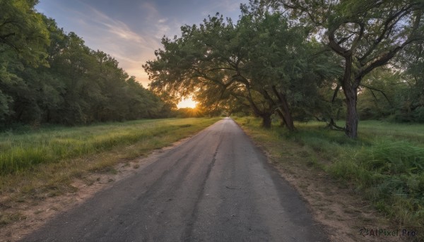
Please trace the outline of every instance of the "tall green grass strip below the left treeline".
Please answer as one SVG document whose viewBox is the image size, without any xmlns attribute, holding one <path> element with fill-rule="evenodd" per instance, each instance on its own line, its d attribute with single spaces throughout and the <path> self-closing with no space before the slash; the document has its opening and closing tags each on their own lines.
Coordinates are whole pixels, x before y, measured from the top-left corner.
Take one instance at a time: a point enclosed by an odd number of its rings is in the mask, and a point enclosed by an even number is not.
<svg viewBox="0 0 424 242">
<path fill-rule="evenodd" d="M 0 174 L 32 169 L 37 164 L 92 155 L 143 140 L 196 131 L 217 119 L 159 119 L 83 127 L 47 127 L 0 133 Z M 186 133 L 186 132 L 184 132 Z M 158 144 L 160 147 L 160 144 Z"/>
</svg>

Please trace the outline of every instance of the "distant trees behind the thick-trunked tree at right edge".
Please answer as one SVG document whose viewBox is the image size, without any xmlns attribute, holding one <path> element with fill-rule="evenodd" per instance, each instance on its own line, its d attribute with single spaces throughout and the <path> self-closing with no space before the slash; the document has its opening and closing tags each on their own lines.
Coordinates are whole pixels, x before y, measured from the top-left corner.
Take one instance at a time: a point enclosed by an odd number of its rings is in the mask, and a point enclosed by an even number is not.
<svg viewBox="0 0 424 242">
<path fill-rule="evenodd" d="M 377 68 L 364 80 L 365 90 L 358 97 L 361 118 L 424 123 L 423 43 L 408 45 L 391 65 Z"/>
</svg>

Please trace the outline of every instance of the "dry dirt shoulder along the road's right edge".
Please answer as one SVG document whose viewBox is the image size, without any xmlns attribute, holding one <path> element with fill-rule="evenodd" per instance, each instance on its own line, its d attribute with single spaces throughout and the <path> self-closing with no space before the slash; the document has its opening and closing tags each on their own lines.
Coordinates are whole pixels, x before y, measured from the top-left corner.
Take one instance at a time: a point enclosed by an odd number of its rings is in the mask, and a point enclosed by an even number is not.
<svg viewBox="0 0 424 242">
<path fill-rule="evenodd" d="M 401 236 L 401 228 L 392 226 L 353 186 L 329 177 L 319 167 L 327 161 L 317 157 L 313 150 L 281 139 L 272 142 L 265 133 L 242 128 L 281 176 L 298 190 L 331 241 L 407 241 L 406 236 Z M 311 162 L 312 156 L 317 159 L 315 162 Z"/>
</svg>

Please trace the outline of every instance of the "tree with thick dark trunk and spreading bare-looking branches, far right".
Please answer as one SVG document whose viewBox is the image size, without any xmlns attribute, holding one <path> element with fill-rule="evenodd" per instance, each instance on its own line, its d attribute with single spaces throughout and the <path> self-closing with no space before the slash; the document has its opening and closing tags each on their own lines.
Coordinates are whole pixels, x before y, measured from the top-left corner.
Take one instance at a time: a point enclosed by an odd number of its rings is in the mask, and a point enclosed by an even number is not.
<svg viewBox="0 0 424 242">
<path fill-rule="evenodd" d="M 384 66 L 402 49 L 423 41 L 423 1 L 277 0 L 300 24 L 322 34 L 344 59 L 341 87 L 346 97 L 346 135 L 358 136 L 358 88 L 365 75 Z"/>
</svg>

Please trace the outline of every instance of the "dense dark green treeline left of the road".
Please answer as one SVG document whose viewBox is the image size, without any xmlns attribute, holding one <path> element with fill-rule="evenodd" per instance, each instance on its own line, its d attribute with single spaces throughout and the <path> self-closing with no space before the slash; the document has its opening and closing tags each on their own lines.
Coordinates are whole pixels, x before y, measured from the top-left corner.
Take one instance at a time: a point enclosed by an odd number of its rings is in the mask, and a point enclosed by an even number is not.
<svg viewBox="0 0 424 242">
<path fill-rule="evenodd" d="M 170 105 L 35 4 L 0 0 L 1 127 L 167 116 Z"/>
</svg>

